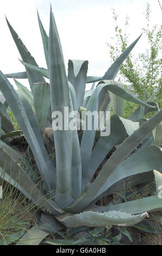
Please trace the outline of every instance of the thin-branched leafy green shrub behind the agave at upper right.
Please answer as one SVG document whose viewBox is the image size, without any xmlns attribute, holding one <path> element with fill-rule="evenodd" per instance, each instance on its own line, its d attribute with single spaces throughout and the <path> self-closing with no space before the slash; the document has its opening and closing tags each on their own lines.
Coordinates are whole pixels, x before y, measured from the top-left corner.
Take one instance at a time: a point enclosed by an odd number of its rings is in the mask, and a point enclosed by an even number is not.
<svg viewBox="0 0 162 256">
<path fill-rule="evenodd" d="M 148 41 L 148 48 L 144 53 L 139 53 L 138 56 L 129 54 L 126 61 L 122 65 L 118 78 L 125 83 L 128 92 L 136 95 L 140 99 L 143 98 L 146 89 L 146 101 L 153 97 L 153 101 L 158 103 L 159 108 L 162 107 L 161 93 L 162 93 L 162 52 L 161 52 L 161 38 L 162 26 L 154 25 L 151 28 L 150 17 L 151 7 L 146 6 L 145 11 L 146 28 L 143 28 L 143 35 Z M 115 38 L 113 43 L 108 44 L 110 49 L 110 56 L 113 61 L 126 50 L 128 46 L 129 35 L 127 28 L 129 26 L 129 17 L 126 17 L 124 23 L 125 29 L 122 30 L 118 25 L 118 15 L 113 9 L 113 19 L 115 23 Z M 134 103 L 125 102 L 124 118 L 128 118 L 130 113 L 136 108 Z M 150 115 L 150 114 L 149 114 Z"/>
</svg>

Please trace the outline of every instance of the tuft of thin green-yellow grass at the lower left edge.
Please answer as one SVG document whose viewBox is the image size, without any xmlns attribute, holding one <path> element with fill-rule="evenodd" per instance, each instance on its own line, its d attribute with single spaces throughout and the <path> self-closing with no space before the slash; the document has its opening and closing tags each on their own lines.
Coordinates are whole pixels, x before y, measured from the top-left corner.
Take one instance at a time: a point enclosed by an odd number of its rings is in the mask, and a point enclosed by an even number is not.
<svg viewBox="0 0 162 256">
<path fill-rule="evenodd" d="M 2 181 L 2 180 L 1 180 Z M 0 199 L 0 245 L 8 245 L 21 237 L 36 223 L 33 204 L 13 186 L 1 182 L 3 198 Z"/>
</svg>

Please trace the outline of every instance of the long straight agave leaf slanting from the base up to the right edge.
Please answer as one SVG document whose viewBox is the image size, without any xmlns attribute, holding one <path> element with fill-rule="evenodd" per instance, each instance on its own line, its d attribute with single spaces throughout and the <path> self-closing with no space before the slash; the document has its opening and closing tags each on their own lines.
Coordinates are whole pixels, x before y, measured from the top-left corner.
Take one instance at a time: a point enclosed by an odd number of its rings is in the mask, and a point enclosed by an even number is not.
<svg viewBox="0 0 162 256">
<path fill-rule="evenodd" d="M 73 203 L 71 209 L 69 208 L 68 211 L 72 210 L 73 212 L 78 212 L 78 210 L 84 209 L 86 206 L 88 206 L 92 200 L 96 198 L 96 194 L 105 184 L 105 181 L 107 181 L 111 173 L 113 173 L 119 164 L 125 160 L 142 141 L 144 141 L 144 139 L 154 130 L 161 120 L 162 109 L 148 121 L 142 124 L 138 130 L 134 131 L 132 135 L 126 138 L 119 148 L 116 149 L 113 155 L 111 155 L 109 160 L 104 164 L 104 167 L 99 172 L 95 181 L 89 186 L 86 196 L 83 196 L 79 202 L 76 201 L 76 204 Z"/>
</svg>

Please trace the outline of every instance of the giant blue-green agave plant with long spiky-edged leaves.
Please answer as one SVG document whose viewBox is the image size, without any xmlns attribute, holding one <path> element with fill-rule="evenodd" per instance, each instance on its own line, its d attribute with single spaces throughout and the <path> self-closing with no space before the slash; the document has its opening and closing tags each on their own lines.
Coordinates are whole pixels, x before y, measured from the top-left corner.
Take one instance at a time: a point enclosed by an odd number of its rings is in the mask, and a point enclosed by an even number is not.
<svg viewBox="0 0 162 256">
<path fill-rule="evenodd" d="M 98 206 L 96 202 L 122 191 L 124 182 L 127 183 L 130 176 L 133 177 L 134 186 L 155 179 L 157 192 L 162 181 L 162 153 L 154 145 L 154 138 L 156 141 L 159 138 L 158 130 L 155 129 L 162 120 L 162 110 L 154 102 L 145 102 L 130 95 L 121 82 L 114 81 L 121 64 L 140 36 L 117 58 L 103 77 L 87 77 L 88 62 L 83 60 L 69 60 L 66 75 L 52 10 L 49 38 L 39 15 L 38 21 L 48 69 L 36 64 L 7 20 L 26 72 L 4 75 L 0 71 L 1 92 L 32 150 L 41 177 L 41 182 L 36 184 L 27 168 L 22 167 L 22 156 L 1 141 L 0 166 L 4 179 L 44 212 L 41 217 L 43 228 L 39 225 L 32 228 L 23 237 L 25 242 L 22 242 L 39 244 L 51 229 L 58 231 L 65 227 L 129 226 L 139 223 L 147 217 L 148 211 L 162 208 L 158 195 L 115 205 Z M 7 77 L 14 78 L 18 91 L 15 91 Z M 28 78 L 31 92 L 16 78 Z M 49 78 L 49 84 L 45 78 Z M 93 84 L 91 90 L 85 93 L 86 83 L 98 81 L 96 87 Z M 124 100 L 140 105 L 128 120 L 121 117 Z M 46 127 L 52 126 L 51 113 L 63 112 L 64 107 L 76 111 L 80 106 L 91 112 L 106 111 L 110 102 L 114 114 L 110 120 L 109 136 L 102 137 L 95 130 L 84 130 L 81 136 L 77 130 L 54 131 L 50 138 L 55 158 L 51 157 L 49 141 L 43 135 Z M 2 108 L 6 115 L 5 105 Z M 157 112 L 152 118 L 141 119 L 152 111 Z M 8 120 L 7 116 L 4 120 Z M 13 130 L 13 127 L 8 128 L 6 133 Z M 106 157 L 115 145 L 117 149 Z M 98 167 L 100 170 L 97 175 Z"/>
</svg>

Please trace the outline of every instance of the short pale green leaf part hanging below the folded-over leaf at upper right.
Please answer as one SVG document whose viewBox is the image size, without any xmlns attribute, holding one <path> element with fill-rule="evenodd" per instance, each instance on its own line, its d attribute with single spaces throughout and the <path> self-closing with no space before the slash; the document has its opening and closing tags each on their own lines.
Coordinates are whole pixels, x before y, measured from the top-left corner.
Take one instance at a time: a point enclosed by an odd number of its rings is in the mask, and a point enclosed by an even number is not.
<svg viewBox="0 0 162 256">
<path fill-rule="evenodd" d="M 122 83 L 119 84 L 119 87 L 124 89 L 124 85 Z M 115 95 L 114 93 L 109 92 L 109 95 L 110 95 L 111 105 L 113 107 L 113 114 L 117 114 L 121 116 L 123 113 L 124 100 L 121 97 Z"/>
</svg>

